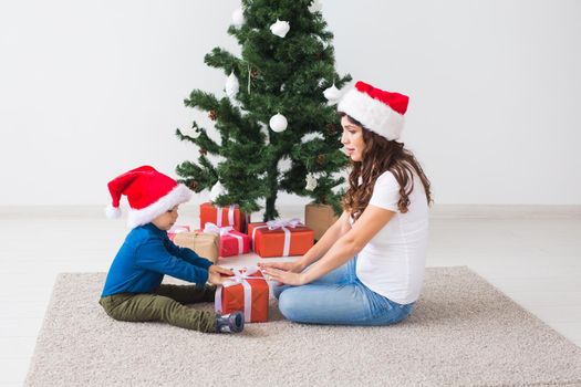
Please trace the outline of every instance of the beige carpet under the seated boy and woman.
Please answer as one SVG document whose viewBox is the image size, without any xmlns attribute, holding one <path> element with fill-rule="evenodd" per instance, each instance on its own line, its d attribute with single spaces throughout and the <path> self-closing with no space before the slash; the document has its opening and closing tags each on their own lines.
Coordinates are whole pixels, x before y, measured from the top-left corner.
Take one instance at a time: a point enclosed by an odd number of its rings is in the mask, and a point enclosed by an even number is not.
<svg viewBox="0 0 581 387">
<path fill-rule="evenodd" d="M 292 324 L 272 301 L 272 321 L 237 336 L 115 322 L 97 304 L 103 280 L 58 278 L 25 385 L 581 385 L 581 348 L 467 268 L 428 269 L 398 325 Z"/>
</svg>

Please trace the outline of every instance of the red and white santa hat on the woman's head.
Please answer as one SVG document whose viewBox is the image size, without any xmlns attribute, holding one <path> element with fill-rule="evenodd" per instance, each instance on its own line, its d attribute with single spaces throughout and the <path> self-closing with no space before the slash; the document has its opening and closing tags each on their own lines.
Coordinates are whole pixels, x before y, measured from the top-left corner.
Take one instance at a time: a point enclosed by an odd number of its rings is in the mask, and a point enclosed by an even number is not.
<svg viewBox="0 0 581 387">
<path fill-rule="evenodd" d="M 393 140 L 400 138 L 409 97 L 357 82 L 338 105 L 338 111 L 355 118 L 363 126 Z"/>
</svg>

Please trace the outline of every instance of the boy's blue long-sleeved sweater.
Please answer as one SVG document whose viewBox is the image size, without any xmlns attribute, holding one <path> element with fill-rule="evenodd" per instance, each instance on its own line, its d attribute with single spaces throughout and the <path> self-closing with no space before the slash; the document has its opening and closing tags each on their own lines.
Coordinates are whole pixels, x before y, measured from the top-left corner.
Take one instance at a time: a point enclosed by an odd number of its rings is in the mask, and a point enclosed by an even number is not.
<svg viewBox="0 0 581 387">
<path fill-rule="evenodd" d="M 153 223 L 133 229 L 111 264 L 102 297 L 116 293 L 151 293 L 164 274 L 203 287 L 212 262 L 178 248 Z"/>
</svg>

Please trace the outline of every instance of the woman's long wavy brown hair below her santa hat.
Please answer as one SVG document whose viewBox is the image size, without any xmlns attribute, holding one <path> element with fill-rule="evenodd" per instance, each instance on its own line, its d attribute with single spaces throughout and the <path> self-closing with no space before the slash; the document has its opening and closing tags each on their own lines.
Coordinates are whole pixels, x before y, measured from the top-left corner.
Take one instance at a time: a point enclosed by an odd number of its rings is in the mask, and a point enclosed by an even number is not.
<svg viewBox="0 0 581 387">
<path fill-rule="evenodd" d="M 400 184 L 397 208 L 402 213 L 407 212 L 409 206 L 409 194 L 414 189 L 414 180 L 411 178 L 413 172 L 422 180 L 426 191 L 426 200 L 428 205 L 432 205 L 429 180 L 414 155 L 404 148 L 403 143 L 388 140 L 366 129 L 359 121 L 347 114 L 340 113 L 340 115 L 363 128 L 363 142 L 365 143 L 362 161 L 351 161 L 353 169 L 349 175 L 349 189 L 343 197 L 343 209 L 351 212 L 354 220 L 357 220 L 367 207 L 375 180 L 386 170 L 390 170 Z M 361 185 L 359 184 L 360 177 Z"/>
</svg>

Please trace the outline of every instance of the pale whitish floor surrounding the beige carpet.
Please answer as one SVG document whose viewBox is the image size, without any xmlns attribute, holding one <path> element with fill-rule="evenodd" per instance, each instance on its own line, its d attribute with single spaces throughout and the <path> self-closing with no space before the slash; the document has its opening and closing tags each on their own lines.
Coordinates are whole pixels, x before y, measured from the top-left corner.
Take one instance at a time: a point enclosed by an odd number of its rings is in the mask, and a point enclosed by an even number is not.
<svg viewBox="0 0 581 387">
<path fill-rule="evenodd" d="M 299 207 L 281 212 L 302 218 Z M 469 266 L 581 346 L 579 208 L 478 213 L 433 212 L 427 265 Z M 197 224 L 194 206 L 179 223 Z M 101 208 L 0 208 L 0 386 L 22 384 L 56 273 L 106 271 L 125 233 L 124 221 L 105 219 Z"/>
</svg>

